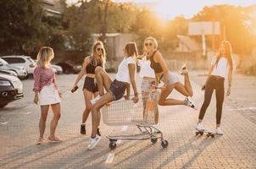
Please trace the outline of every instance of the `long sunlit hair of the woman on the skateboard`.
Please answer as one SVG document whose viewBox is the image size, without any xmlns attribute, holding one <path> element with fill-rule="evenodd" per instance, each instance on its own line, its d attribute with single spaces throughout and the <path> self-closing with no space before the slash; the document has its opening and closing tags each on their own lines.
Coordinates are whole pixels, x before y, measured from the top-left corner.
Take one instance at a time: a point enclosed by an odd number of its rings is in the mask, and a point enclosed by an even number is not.
<svg viewBox="0 0 256 169">
<path fill-rule="evenodd" d="M 233 56 L 232 56 L 232 48 L 231 43 L 229 41 L 221 41 L 220 46 L 224 45 L 225 47 L 225 57 L 227 58 L 227 64 L 230 66 L 231 70 L 233 70 Z M 217 54 L 217 61 L 216 66 L 218 66 L 218 63 L 220 61 L 220 57 L 223 57 L 224 53 L 221 53 L 221 50 L 219 50 L 219 53 Z"/>
</svg>

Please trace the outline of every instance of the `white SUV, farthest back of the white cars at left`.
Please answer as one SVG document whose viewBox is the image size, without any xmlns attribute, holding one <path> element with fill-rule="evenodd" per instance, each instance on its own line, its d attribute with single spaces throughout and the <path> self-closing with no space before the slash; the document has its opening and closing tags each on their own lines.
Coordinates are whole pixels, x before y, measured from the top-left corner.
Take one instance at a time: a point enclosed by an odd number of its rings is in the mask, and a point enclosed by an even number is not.
<svg viewBox="0 0 256 169">
<path fill-rule="evenodd" d="M 36 68 L 36 62 L 28 56 L 4 56 L 2 58 L 11 65 L 22 66 L 27 74 L 33 74 Z"/>
</svg>

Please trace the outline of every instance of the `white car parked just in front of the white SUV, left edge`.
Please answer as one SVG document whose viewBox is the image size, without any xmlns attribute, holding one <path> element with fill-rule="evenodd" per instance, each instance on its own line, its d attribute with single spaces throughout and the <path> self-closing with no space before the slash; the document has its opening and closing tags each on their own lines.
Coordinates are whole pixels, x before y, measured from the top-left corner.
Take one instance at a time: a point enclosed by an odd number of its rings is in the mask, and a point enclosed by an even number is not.
<svg viewBox="0 0 256 169">
<path fill-rule="evenodd" d="M 25 68 L 22 68 L 20 66 L 10 65 L 5 60 L 3 60 L 2 58 L 0 58 L 0 68 L 14 71 L 18 75 L 19 79 L 26 79 L 27 76 L 28 76 L 28 74 L 26 73 Z"/>
</svg>

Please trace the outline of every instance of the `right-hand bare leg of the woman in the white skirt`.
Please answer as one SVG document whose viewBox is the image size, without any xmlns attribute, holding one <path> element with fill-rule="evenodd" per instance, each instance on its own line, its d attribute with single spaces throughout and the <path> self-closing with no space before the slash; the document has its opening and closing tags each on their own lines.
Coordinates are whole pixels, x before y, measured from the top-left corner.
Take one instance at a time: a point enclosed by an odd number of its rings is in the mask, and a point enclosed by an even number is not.
<svg viewBox="0 0 256 169">
<path fill-rule="evenodd" d="M 50 138 L 54 139 L 55 138 L 55 129 L 58 124 L 58 119 L 60 118 L 60 103 L 51 105 L 52 110 L 53 110 L 53 119 L 50 125 Z"/>
</svg>

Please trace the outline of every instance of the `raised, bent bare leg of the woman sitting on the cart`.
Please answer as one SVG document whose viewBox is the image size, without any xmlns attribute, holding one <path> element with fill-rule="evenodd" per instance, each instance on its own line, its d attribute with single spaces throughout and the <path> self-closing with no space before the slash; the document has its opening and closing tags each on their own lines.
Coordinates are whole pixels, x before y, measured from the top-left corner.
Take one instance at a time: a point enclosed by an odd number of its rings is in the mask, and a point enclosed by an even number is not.
<svg viewBox="0 0 256 169">
<path fill-rule="evenodd" d="M 99 66 L 95 68 L 95 78 L 97 81 L 99 95 L 103 95 L 104 88 L 108 91 L 112 83 L 112 80 L 109 78 L 109 74 L 107 74 L 106 71 Z"/>
</svg>

